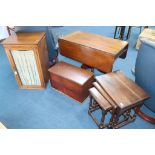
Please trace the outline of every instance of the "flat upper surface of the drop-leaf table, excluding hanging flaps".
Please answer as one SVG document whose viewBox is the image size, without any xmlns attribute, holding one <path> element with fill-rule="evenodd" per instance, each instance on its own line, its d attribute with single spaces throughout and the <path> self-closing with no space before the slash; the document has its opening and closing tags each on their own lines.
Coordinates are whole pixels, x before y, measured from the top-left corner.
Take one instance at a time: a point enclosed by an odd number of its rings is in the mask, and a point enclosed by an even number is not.
<svg viewBox="0 0 155 155">
<path fill-rule="evenodd" d="M 119 53 L 128 45 L 127 41 L 80 31 L 71 33 L 61 39 L 94 48 L 99 51 L 104 51 L 114 56 L 119 55 Z"/>
</svg>

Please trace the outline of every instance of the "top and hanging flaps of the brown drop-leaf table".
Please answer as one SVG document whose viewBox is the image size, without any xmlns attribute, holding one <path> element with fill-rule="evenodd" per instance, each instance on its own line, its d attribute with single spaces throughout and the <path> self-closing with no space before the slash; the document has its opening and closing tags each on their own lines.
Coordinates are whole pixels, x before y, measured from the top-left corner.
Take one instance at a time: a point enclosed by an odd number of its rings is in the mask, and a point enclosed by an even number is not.
<svg viewBox="0 0 155 155">
<path fill-rule="evenodd" d="M 59 39 L 60 53 L 102 72 L 111 72 L 116 58 L 126 57 L 128 42 L 86 32 Z"/>
</svg>

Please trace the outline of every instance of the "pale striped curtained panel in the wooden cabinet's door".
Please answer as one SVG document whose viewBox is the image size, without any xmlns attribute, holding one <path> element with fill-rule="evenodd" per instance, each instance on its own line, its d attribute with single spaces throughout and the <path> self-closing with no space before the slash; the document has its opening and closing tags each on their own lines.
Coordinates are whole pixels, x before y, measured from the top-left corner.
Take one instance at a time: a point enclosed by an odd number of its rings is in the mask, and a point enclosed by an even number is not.
<svg viewBox="0 0 155 155">
<path fill-rule="evenodd" d="M 33 50 L 11 50 L 11 55 L 16 66 L 14 71 L 23 86 L 41 86 L 41 80 Z"/>
</svg>

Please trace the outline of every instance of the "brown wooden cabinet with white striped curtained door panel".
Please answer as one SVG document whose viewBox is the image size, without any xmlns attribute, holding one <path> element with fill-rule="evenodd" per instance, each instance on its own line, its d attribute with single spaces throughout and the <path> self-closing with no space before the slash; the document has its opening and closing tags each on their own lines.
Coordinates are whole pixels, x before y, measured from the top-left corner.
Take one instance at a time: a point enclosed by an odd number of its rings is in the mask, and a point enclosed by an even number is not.
<svg viewBox="0 0 155 155">
<path fill-rule="evenodd" d="M 44 32 L 20 32 L 2 42 L 20 88 L 43 89 L 49 80 Z"/>
</svg>

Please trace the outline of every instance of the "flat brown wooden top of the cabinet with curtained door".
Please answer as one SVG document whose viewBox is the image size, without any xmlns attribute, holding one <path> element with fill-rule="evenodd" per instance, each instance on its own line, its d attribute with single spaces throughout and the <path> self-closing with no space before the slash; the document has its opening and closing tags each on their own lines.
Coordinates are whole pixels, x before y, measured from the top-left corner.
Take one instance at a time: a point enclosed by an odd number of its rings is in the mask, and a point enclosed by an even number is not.
<svg viewBox="0 0 155 155">
<path fill-rule="evenodd" d="M 45 36 L 45 32 L 17 32 L 6 38 L 3 45 L 32 45 L 38 44 L 39 41 Z"/>
</svg>

